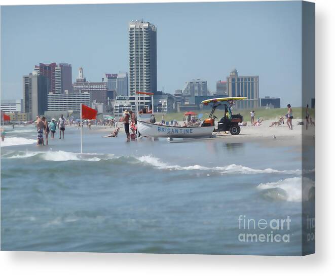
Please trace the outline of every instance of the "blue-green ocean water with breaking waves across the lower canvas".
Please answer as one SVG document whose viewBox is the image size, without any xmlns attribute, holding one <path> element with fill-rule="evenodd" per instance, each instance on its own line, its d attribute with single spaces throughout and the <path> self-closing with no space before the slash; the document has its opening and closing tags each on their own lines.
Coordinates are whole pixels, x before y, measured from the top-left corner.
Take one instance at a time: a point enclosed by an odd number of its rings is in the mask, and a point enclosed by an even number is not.
<svg viewBox="0 0 335 276">
<path fill-rule="evenodd" d="M 308 168 L 302 189 L 298 148 L 107 132 L 85 128 L 80 154 L 76 128 L 45 147 L 33 127 L 7 129 L 2 250 L 301 255 L 302 202 L 315 184 Z"/>
</svg>

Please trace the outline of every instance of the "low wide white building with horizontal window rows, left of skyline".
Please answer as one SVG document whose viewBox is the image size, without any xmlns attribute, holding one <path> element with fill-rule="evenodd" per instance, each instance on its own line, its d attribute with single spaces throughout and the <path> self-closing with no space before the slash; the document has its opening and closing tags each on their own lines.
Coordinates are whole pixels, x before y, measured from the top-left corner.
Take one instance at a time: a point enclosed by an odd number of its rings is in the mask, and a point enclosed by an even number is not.
<svg viewBox="0 0 335 276">
<path fill-rule="evenodd" d="M 50 92 L 48 94 L 48 111 L 80 111 L 81 103 L 91 105 L 89 92 L 70 94 Z"/>
</svg>

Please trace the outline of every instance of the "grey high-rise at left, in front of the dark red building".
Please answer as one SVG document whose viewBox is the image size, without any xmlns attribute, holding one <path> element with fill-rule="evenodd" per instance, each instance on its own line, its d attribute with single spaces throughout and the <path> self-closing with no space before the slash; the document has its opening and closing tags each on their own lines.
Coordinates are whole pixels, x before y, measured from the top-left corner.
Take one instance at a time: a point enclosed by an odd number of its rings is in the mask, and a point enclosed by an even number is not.
<svg viewBox="0 0 335 276">
<path fill-rule="evenodd" d="M 48 107 L 49 79 L 33 71 L 23 76 L 23 113 L 29 113 L 29 120 L 42 115 Z"/>
</svg>

